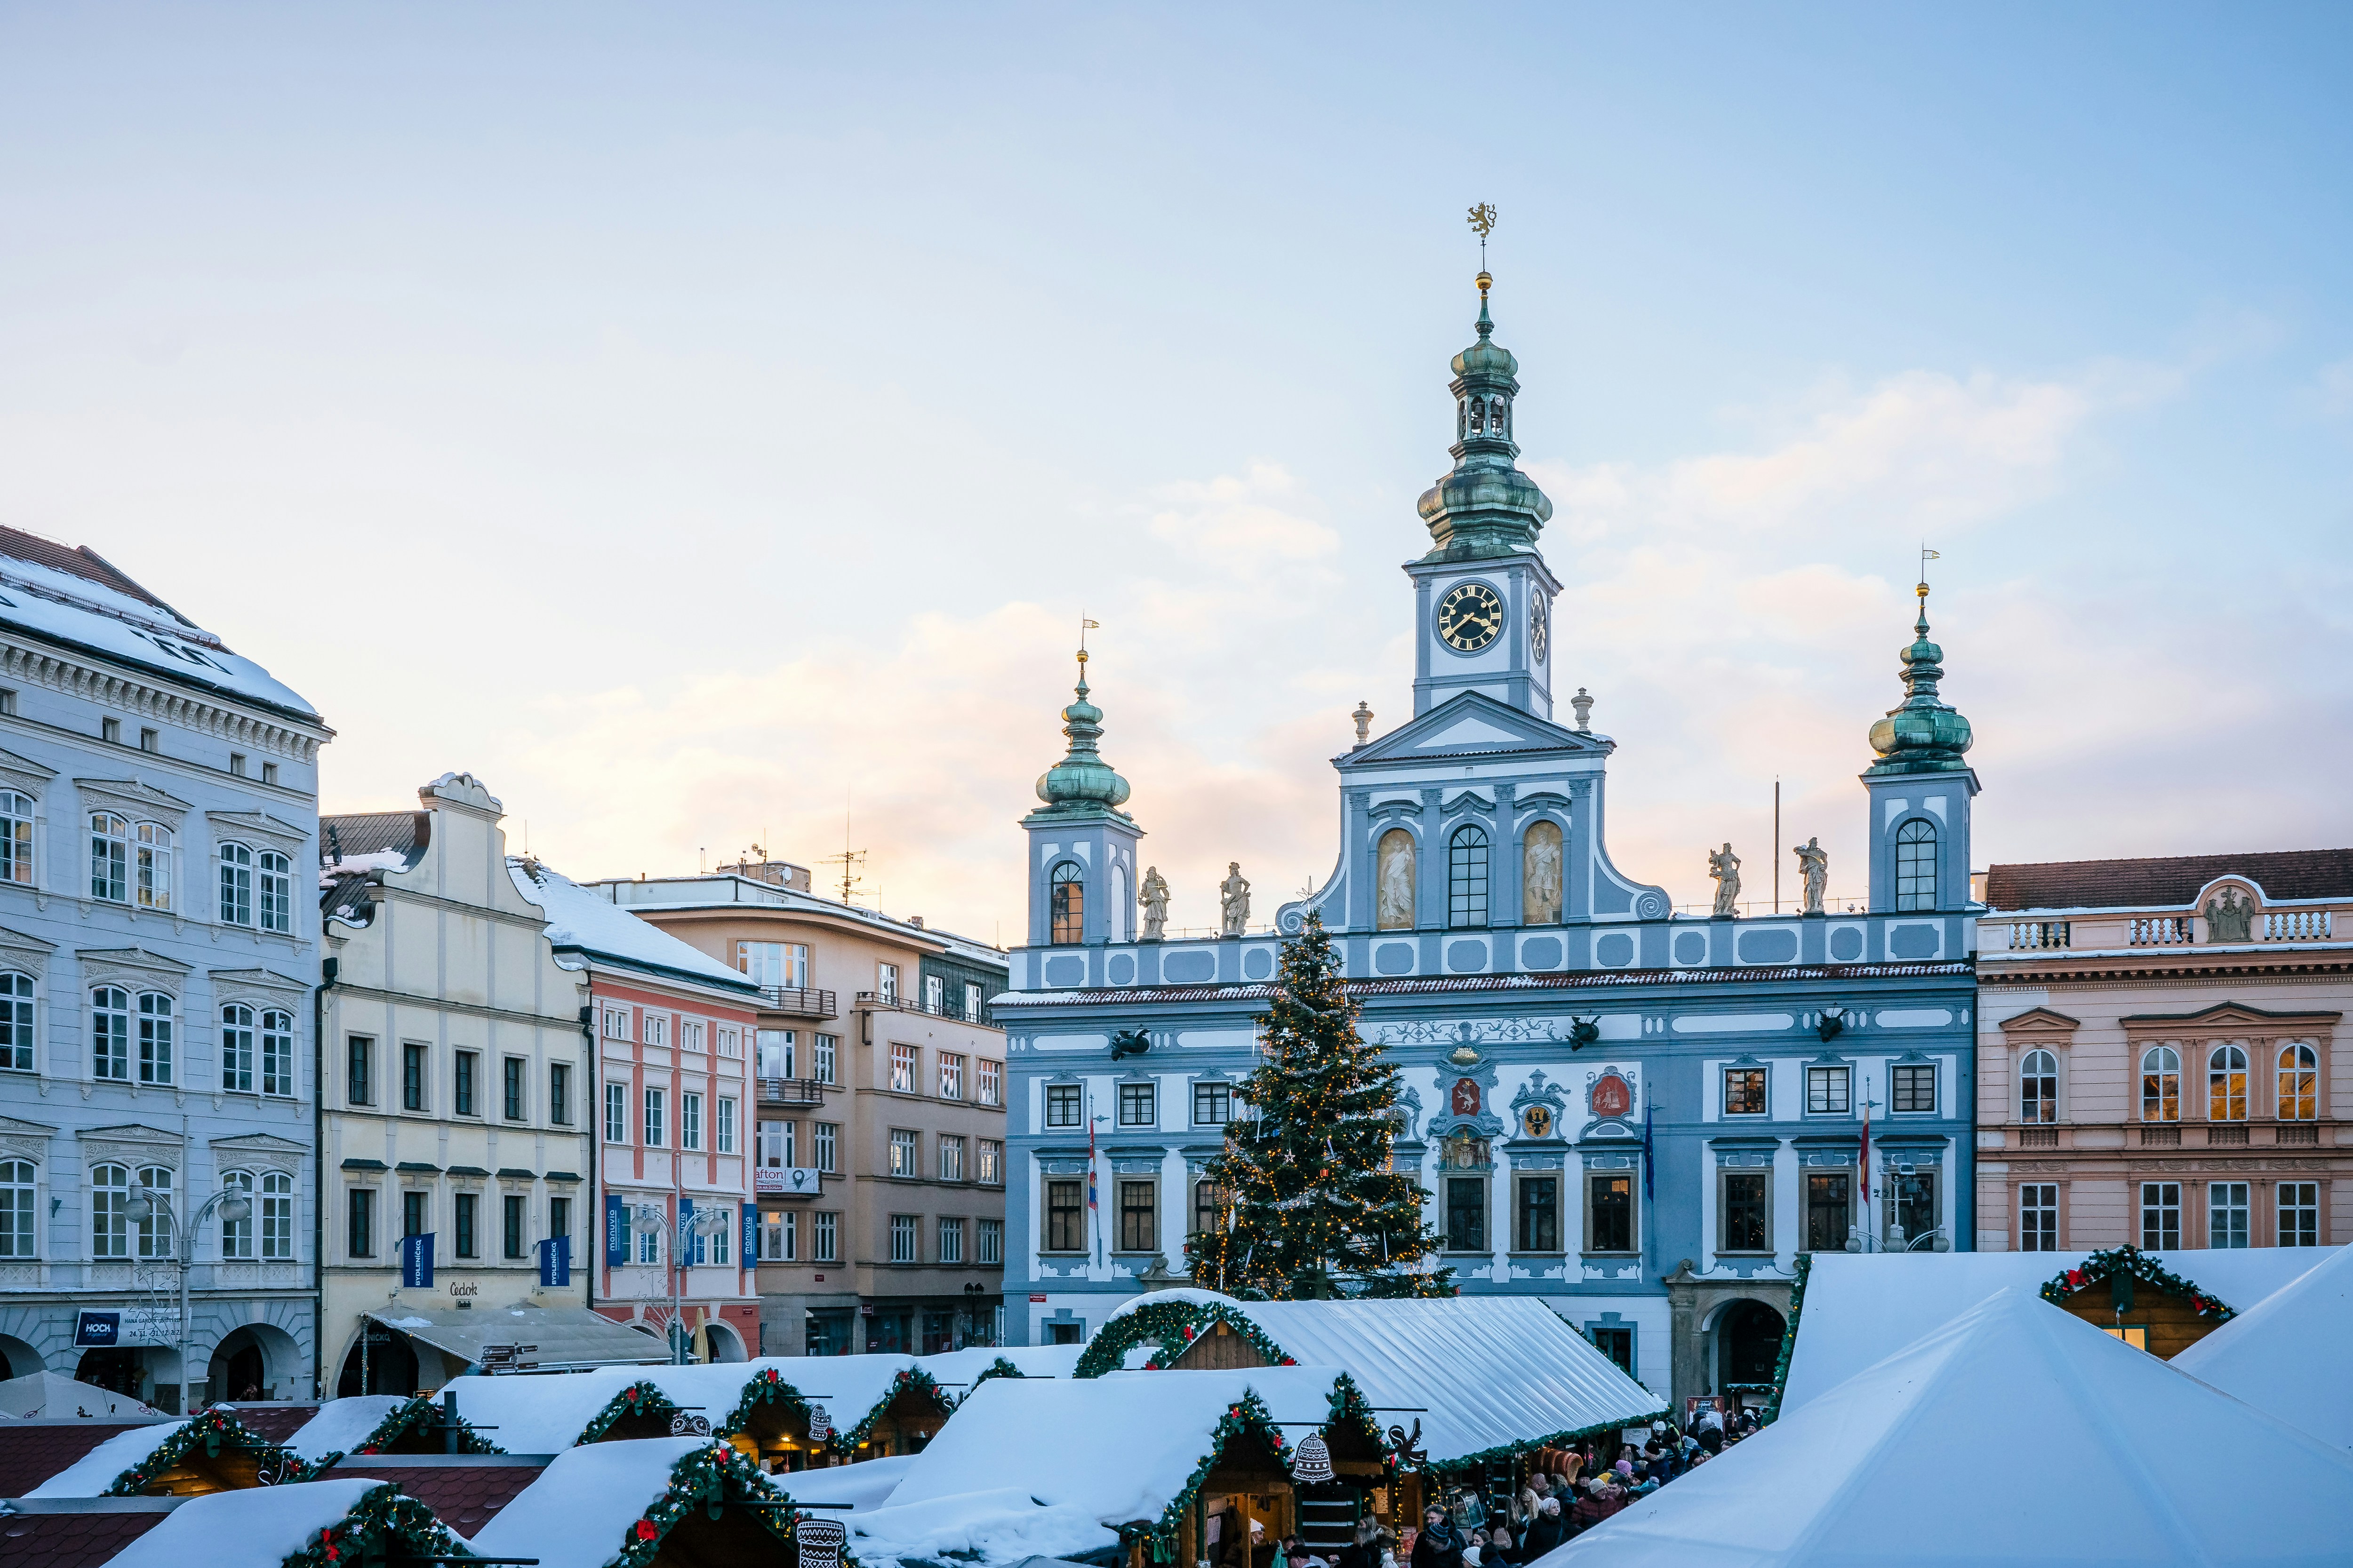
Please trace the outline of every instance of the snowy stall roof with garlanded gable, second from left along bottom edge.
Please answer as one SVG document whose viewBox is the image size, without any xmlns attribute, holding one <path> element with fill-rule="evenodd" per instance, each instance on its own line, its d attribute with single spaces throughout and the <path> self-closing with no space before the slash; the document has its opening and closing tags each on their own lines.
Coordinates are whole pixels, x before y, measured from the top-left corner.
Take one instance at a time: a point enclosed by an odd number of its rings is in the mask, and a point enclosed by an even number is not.
<svg viewBox="0 0 2353 1568">
<path fill-rule="evenodd" d="M 744 1455 L 708 1436 L 593 1443 L 555 1455 L 471 1547 L 480 1556 L 536 1556 L 544 1568 L 605 1568 L 624 1549 L 659 1540 L 687 1514 L 699 1514 L 713 1481 L 727 1500 L 784 1500 Z M 640 1521 L 652 1535 L 640 1533 Z M 781 1547 L 776 1561 L 784 1561 Z"/>
</svg>

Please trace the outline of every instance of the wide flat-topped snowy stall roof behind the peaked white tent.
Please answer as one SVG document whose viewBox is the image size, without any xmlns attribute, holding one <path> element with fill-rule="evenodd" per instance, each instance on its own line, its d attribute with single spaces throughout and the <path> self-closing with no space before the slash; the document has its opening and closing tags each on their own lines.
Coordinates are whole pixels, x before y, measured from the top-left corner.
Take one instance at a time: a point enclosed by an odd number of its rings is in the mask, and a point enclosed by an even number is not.
<svg viewBox="0 0 2353 1568">
<path fill-rule="evenodd" d="M 2146 1255 L 2245 1312 L 2329 1251 L 2252 1246 Z M 1805 1302 L 1798 1307 L 1798 1345 L 1781 1387 L 1781 1413 L 1838 1387 L 1995 1291 L 2019 1286 L 2031 1295 L 2085 1258 L 2089 1253 L 1814 1253 Z"/>
</svg>

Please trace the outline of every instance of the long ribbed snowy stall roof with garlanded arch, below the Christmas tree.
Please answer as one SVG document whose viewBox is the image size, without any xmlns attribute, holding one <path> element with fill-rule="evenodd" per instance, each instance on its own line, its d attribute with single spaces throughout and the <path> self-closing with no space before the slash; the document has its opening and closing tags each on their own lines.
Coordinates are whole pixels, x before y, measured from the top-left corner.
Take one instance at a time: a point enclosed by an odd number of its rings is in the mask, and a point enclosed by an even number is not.
<svg viewBox="0 0 2353 1568">
<path fill-rule="evenodd" d="M 1087 1366 L 1125 1356 L 1141 1338 L 1160 1340 L 1155 1361 L 1165 1363 L 1184 1352 L 1181 1326 L 1200 1331 L 1219 1316 L 1249 1324 L 1278 1361 L 1346 1371 L 1377 1410 L 1400 1410 L 1384 1425 L 1412 1429 L 1419 1420 L 1433 1465 L 1647 1422 L 1666 1408 L 1527 1295 L 1245 1302 L 1217 1291 L 1153 1291 L 1104 1324 Z"/>
</svg>

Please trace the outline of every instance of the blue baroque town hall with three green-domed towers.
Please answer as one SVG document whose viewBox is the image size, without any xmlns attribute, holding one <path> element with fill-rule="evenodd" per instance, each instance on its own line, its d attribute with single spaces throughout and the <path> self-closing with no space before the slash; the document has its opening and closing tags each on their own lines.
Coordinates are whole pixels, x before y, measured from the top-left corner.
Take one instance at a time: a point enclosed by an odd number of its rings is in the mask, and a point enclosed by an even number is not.
<svg viewBox="0 0 2353 1568">
<path fill-rule="evenodd" d="M 1487 287 L 1452 362 L 1454 468 L 1405 567 L 1412 719 L 1334 759 L 1339 860 L 1273 931 L 1139 936 L 1144 827 L 1082 665 L 1071 750 L 1021 823 L 1028 940 L 995 1011 L 1021 1342 L 1082 1338 L 1181 1274 L 1280 938 L 1308 912 L 1402 1072 L 1395 1159 L 1461 1288 L 1544 1298 L 1652 1389 L 1769 1382 L 1802 1251 L 1972 1244 L 1977 778 L 1927 590 L 1861 776 L 1868 907 L 1675 914 L 1609 863 L 1614 743 L 1581 693 L 1572 724 L 1553 715 L 1551 501 L 1515 468 L 1518 362 Z"/>
</svg>

